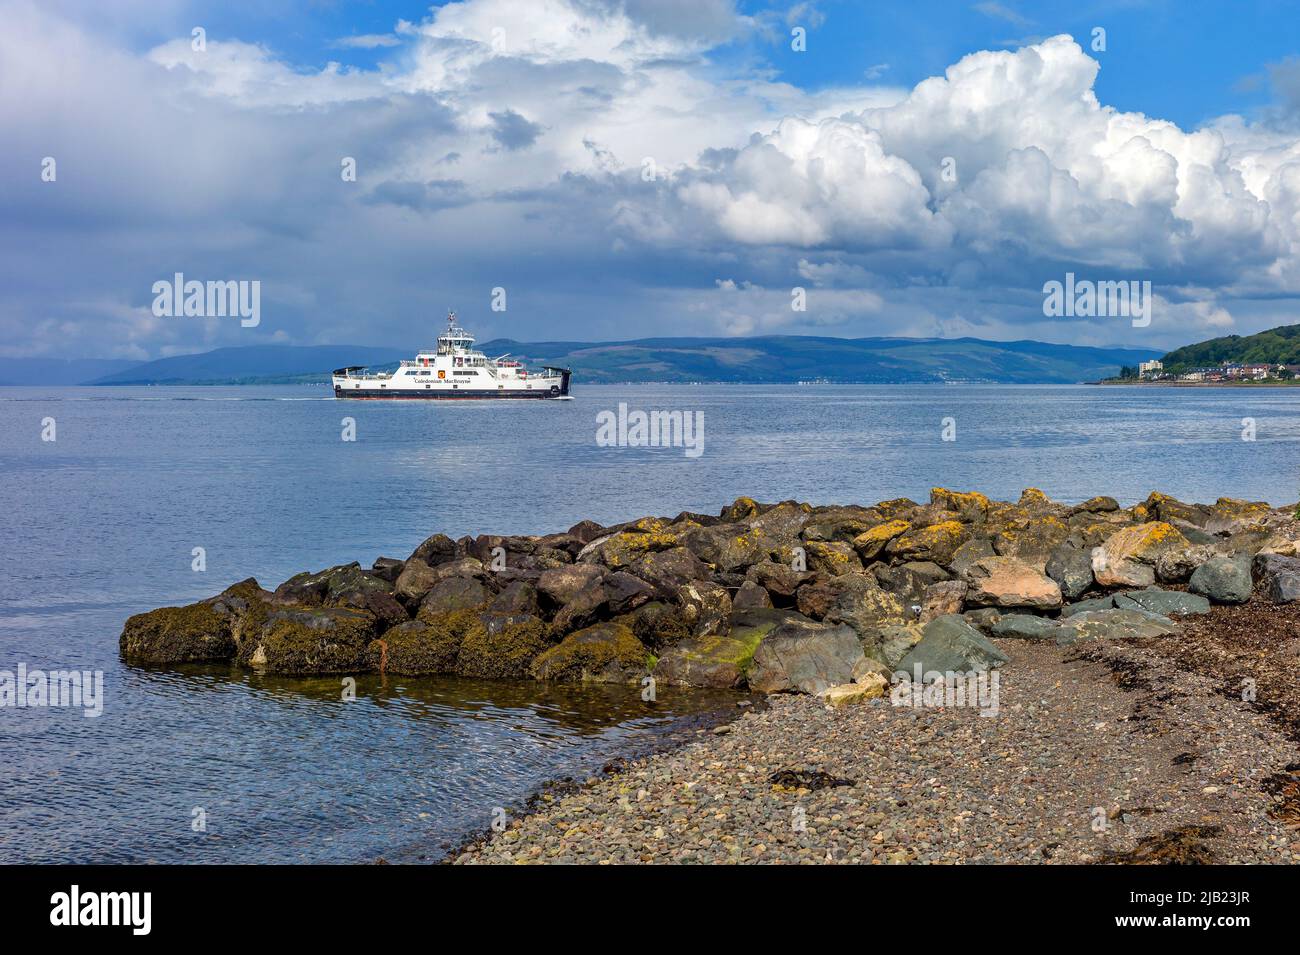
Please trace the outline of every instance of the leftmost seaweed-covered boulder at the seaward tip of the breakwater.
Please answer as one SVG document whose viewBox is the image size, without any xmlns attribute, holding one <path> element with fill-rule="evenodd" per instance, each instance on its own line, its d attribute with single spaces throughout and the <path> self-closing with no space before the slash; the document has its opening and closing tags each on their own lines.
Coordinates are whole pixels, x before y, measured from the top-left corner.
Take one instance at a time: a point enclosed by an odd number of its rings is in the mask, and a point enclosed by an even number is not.
<svg viewBox="0 0 1300 955">
<path fill-rule="evenodd" d="M 118 646 L 130 663 L 173 664 L 229 660 L 255 612 L 270 594 L 248 578 L 186 607 L 160 607 L 129 617 Z"/>
</svg>

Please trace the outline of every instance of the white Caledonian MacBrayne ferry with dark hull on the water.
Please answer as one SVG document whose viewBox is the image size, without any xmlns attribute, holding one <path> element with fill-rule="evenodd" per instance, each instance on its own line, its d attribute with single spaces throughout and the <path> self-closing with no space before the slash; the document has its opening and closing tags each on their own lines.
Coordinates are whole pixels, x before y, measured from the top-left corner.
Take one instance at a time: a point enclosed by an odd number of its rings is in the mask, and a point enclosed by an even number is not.
<svg viewBox="0 0 1300 955">
<path fill-rule="evenodd" d="M 474 337 L 447 313 L 447 330 L 433 351 L 421 351 L 394 372 L 370 374 L 364 365 L 334 369 L 334 398 L 481 399 L 568 398 L 569 369 L 546 366 L 529 372 L 510 355 L 489 359 L 476 351 Z"/>
</svg>

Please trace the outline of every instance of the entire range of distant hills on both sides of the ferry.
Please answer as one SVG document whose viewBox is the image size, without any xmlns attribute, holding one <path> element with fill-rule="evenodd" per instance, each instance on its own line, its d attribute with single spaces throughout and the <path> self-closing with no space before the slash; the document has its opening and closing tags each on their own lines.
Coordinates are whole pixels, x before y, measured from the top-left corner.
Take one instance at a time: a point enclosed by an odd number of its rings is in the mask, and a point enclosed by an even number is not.
<svg viewBox="0 0 1300 955">
<path fill-rule="evenodd" d="M 1072 383 L 1096 381 L 1136 365 L 1157 352 L 1092 348 L 1044 342 L 985 342 L 978 338 L 644 338 L 632 342 L 514 342 L 482 344 L 489 356 L 511 353 L 532 366 L 573 369 L 575 385 L 599 382 L 798 381 L 926 383 L 974 381 L 1000 383 Z M 23 366 L 34 381 L 14 383 L 92 385 L 280 385 L 328 382 L 343 365 L 391 369 L 410 350 L 363 346 L 259 344 L 217 348 L 139 364 L 81 365 L 58 381 L 49 368 Z M 20 361 L 20 360 L 10 360 Z M 35 359 L 22 360 L 27 363 Z M 42 360 L 44 361 L 44 360 Z M 55 363 L 46 361 L 46 365 Z M 125 365 L 125 366 L 122 366 Z M 0 381 L 5 365 L 0 364 Z M 39 370 L 39 374 L 38 374 Z M 73 382 L 75 379 L 75 382 Z"/>
</svg>

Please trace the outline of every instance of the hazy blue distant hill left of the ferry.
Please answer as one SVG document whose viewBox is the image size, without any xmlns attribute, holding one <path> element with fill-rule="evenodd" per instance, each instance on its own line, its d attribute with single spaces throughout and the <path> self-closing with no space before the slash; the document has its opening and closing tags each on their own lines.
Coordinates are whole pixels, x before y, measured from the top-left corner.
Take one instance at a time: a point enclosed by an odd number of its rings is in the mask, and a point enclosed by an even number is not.
<svg viewBox="0 0 1300 955">
<path fill-rule="evenodd" d="M 329 381 L 343 365 L 384 365 L 411 357 L 395 348 L 350 344 L 251 344 L 147 361 L 95 385 L 283 385 Z"/>
</svg>

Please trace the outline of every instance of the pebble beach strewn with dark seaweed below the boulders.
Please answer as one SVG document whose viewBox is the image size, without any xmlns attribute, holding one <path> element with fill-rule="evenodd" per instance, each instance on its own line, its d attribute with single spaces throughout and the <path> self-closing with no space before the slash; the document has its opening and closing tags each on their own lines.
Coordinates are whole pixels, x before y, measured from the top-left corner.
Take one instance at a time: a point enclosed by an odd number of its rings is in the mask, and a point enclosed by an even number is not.
<svg viewBox="0 0 1300 955">
<path fill-rule="evenodd" d="M 445 861 L 1300 864 L 1294 699 L 1245 703 L 1231 667 L 1190 667 L 1158 639 L 997 644 L 1011 716 L 775 698 L 534 800 Z M 1069 698 L 1050 699 L 1062 677 Z M 780 770 L 805 777 L 772 782 Z"/>
</svg>

